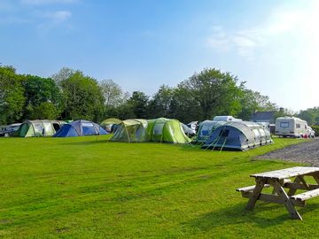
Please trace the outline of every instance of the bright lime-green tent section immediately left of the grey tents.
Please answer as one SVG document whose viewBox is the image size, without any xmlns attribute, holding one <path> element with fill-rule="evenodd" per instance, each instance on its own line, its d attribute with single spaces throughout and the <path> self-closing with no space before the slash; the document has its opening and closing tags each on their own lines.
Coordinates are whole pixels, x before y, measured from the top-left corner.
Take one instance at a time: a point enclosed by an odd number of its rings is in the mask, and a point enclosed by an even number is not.
<svg viewBox="0 0 319 239">
<path fill-rule="evenodd" d="M 191 139 L 183 132 L 178 120 L 159 118 L 147 120 L 147 133 L 151 142 L 159 143 L 190 143 Z"/>
</svg>

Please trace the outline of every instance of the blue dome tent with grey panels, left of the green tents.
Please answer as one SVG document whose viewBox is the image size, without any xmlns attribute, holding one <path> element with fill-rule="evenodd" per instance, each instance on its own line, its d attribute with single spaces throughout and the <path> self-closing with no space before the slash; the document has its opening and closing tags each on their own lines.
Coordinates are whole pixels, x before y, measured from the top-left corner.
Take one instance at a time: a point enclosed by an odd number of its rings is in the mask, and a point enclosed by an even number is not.
<svg viewBox="0 0 319 239">
<path fill-rule="evenodd" d="M 61 127 L 53 137 L 75 137 L 85 135 L 107 135 L 103 127 L 88 120 L 76 120 Z"/>
</svg>

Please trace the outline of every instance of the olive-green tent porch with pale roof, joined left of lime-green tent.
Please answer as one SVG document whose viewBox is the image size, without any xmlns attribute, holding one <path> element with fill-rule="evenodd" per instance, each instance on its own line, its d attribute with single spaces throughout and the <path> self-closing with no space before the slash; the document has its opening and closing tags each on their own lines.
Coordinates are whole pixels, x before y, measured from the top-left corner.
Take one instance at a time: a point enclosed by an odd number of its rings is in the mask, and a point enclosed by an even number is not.
<svg viewBox="0 0 319 239">
<path fill-rule="evenodd" d="M 148 142 L 147 120 L 123 120 L 118 125 L 110 141 L 113 142 Z"/>
</svg>

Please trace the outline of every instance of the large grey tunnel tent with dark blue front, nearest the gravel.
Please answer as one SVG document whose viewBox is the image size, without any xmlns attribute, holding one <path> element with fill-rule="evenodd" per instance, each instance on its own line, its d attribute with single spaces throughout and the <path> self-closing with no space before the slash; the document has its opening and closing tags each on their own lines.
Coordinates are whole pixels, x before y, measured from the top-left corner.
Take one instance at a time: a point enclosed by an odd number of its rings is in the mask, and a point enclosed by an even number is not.
<svg viewBox="0 0 319 239">
<path fill-rule="evenodd" d="M 253 122 L 229 121 L 217 127 L 202 148 L 219 150 L 249 150 L 273 143 L 270 133 Z"/>
</svg>

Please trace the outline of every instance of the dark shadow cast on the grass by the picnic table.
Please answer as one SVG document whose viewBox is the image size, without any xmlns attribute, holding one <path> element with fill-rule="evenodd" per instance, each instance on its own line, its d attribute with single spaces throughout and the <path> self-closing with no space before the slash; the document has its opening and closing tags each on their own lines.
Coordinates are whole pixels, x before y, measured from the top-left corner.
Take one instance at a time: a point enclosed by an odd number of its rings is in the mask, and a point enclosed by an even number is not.
<svg viewBox="0 0 319 239">
<path fill-rule="evenodd" d="M 292 221 L 283 204 L 256 204 L 253 212 L 246 211 L 245 205 L 245 203 L 236 204 L 215 212 L 208 212 L 185 224 L 200 230 L 210 231 L 218 227 L 237 225 L 238 227 L 253 225 L 260 228 L 268 228 L 281 225 L 287 220 Z M 297 207 L 297 210 L 300 212 L 301 217 L 306 217 L 307 213 L 315 213 L 314 211 L 318 208 L 319 204 L 308 204 L 304 208 Z"/>
</svg>

